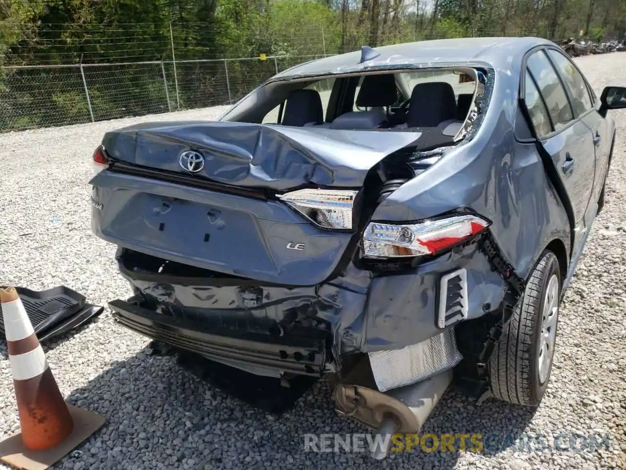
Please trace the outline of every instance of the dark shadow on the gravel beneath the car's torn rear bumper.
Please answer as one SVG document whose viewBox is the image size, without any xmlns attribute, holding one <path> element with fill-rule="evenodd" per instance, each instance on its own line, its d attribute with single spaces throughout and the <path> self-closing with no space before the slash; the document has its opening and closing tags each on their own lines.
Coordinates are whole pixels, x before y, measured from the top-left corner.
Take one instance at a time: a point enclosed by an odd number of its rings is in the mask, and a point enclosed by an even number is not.
<svg viewBox="0 0 626 470">
<path fill-rule="evenodd" d="M 242 386 L 254 389 L 254 378 Z M 367 452 L 305 451 L 305 434 L 369 434 L 339 417 L 326 380 L 319 380 L 290 409 L 277 416 L 225 394 L 182 370 L 173 357 L 152 356 L 146 348 L 113 364 L 68 397 L 71 404 L 105 415 L 90 441 L 55 468 L 128 469 L 452 469 L 457 452 L 393 453 L 373 461 Z M 480 434 L 493 455 L 513 445 L 533 409 L 500 402 L 476 405 L 456 387 L 444 395 L 423 434 Z M 459 450 L 459 439 L 455 448 Z M 467 439 L 467 447 L 471 446 Z M 432 442 L 428 442 L 432 446 Z M 469 452 L 468 452 L 469 454 Z M 471 457 L 468 457 L 471 458 Z M 81 463 L 79 463 L 81 462 Z"/>
</svg>

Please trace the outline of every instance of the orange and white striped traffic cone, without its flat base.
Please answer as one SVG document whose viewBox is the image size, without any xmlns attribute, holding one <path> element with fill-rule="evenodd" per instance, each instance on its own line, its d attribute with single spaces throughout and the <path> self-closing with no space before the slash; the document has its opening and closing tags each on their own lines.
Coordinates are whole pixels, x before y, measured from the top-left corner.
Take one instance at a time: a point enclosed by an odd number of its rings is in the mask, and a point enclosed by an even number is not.
<svg viewBox="0 0 626 470">
<path fill-rule="evenodd" d="M 73 419 L 17 291 L 0 289 L 0 301 L 22 441 L 33 451 L 50 449 L 72 433 Z"/>
</svg>

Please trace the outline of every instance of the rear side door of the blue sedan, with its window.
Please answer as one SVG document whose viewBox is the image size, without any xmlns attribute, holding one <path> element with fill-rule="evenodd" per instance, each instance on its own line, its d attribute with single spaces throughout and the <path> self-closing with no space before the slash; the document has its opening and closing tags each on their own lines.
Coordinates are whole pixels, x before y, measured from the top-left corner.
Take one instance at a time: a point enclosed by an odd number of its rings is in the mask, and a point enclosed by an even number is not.
<svg viewBox="0 0 626 470">
<path fill-rule="evenodd" d="M 526 60 L 526 73 L 548 113 L 550 133 L 540 144 L 552 157 L 558 177 L 572 204 L 575 219 L 573 253 L 577 255 L 587 233 L 587 207 L 595 176 L 595 149 L 589 127 L 572 110 L 570 99 L 546 51 L 534 51 Z"/>
</svg>

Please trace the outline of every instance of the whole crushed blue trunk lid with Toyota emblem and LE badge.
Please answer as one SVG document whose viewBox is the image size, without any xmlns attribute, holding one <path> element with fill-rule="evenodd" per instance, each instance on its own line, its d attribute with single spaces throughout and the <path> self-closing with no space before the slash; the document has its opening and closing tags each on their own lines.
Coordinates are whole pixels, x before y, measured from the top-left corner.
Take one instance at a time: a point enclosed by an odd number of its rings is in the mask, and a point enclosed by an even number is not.
<svg viewBox="0 0 626 470">
<path fill-rule="evenodd" d="M 316 285 L 350 256 L 356 230 L 316 226 L 275 195 L 304 186 L 360 189 L 372 167 L 419 135 L 232 122 L 115 130 L 103 139 L 113 165 L 90 181 L 91 227 L 110 243 L 176 263 Z M 187 150 L 204 157 L 193 174 L 178 162 Z M 259 190 L 263 197 L 250 194 Z"/>
</svg>

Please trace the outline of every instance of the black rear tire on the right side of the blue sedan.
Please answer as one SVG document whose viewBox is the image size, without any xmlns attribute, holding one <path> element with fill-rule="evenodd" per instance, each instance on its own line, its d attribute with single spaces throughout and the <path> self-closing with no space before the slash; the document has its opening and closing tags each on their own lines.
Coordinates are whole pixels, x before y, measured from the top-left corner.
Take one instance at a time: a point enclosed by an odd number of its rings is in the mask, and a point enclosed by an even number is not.
<svg viewBox="0 0 626 470">
<path fill-rule="evenodd" d="M 548 372 L 542 382 L 538 363 L 539 342 L 541 320 L 545 313 L 543 300 L 553 275 L 557 276 L 559 305 L 562 278 L 558 259 L 551 251 L 544 251 L 489 360 L 491 393 L 496 399 L 516 405 L 537 406 L 545 394 L 552 372 L 553 348 Z M 558 329 L 558 313 L 556 321 L 554 335 Z"/>
</svg>

